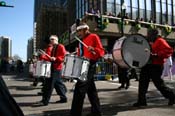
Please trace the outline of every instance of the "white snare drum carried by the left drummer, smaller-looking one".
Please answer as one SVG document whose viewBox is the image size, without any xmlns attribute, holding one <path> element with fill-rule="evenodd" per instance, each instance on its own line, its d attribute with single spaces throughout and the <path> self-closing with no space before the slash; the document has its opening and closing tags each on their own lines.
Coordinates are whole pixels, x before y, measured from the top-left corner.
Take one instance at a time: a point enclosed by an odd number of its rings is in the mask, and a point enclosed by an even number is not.
<svg viewBox="0 0 175 116">
<path fill-rule="evenodd" d="M 35 76 L 49 78 L 51 76 L 51 62 L 37 61 Z"/>
</svg>

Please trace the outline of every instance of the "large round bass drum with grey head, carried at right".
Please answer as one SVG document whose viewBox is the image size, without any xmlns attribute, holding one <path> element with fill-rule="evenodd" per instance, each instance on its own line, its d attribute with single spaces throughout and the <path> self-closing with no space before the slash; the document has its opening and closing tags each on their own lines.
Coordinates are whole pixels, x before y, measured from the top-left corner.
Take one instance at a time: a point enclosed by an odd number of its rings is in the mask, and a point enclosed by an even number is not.
<svg viewBox="0 0 175 116">
<path fill-rule="evenodd" d="M 144 36 L 121 37 L 113 46 L 113 59 L 123 68 L 141 68 L 150 58 L 150 45 Z"/>
</svg>

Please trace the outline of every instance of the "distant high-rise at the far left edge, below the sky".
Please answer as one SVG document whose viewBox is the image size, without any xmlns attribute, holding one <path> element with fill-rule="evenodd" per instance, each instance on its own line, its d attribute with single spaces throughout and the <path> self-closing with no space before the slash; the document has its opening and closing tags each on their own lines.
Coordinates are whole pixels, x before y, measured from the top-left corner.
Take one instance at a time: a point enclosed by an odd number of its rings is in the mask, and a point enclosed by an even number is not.
<svg viewBox="0 0 175 116">
<path fill-rule="evenodd" d="M 10 37 L 0 37 L 0 57 L 9 59 L 12 58 L 12 40 Z"/>
</svg>

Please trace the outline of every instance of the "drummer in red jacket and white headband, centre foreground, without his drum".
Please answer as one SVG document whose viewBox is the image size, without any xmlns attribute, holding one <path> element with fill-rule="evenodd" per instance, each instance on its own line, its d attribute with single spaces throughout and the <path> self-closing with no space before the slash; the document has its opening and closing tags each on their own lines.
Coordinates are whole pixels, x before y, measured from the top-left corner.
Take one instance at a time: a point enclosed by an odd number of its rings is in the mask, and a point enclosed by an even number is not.
<svg viewBox="0 0 175 116">
<path fill-rule="evenodd" d="M 87 45 L 82 46 L 82 44 L 79 43 L 78 56 L 89 59 L 90 66 L 88 69 L 87 80 L 77 80 L 70 114 L 71 116 L 81 116 L 84 98 L 87 93 L 91 103 L 91 113 L 88 114 L 88 116 L 101 116 L 100 101 L 94 82 L 94 74 L 96 71 L 96 62 L 103 57 L 104 49 L 99 36 L 91 33 L 89 31 L 89 26 L 86 23 L 82 23 L 77 27 L 77 34 L 84 44 Z"/>
</svg>

